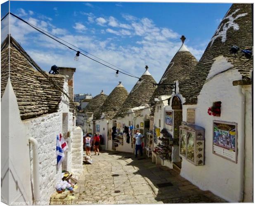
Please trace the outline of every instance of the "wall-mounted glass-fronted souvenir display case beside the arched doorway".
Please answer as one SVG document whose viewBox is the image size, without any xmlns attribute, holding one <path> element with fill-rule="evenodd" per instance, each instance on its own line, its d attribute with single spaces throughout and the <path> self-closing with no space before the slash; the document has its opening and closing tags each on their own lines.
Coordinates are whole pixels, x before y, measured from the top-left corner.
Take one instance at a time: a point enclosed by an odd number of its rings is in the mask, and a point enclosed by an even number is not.
<svg viewBox="0 0 256 206">
<path fill-rule="evenodd" d="M 197 125 L 180 126 L 180 156 L 188 162 L 204 165 L 204 128 Z"/>
</svg>

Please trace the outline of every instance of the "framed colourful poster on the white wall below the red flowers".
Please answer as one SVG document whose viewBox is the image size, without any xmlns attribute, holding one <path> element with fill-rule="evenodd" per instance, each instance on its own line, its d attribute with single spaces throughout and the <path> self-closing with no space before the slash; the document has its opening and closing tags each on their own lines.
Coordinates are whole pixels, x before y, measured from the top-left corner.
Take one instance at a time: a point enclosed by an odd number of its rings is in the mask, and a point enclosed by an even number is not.
<svg viewBox="0 0 256 206">
<path fill-rule="evenodd" d="M 213 154 L 237 163 L 237 123 L 213 120 Z"/>
</svg>

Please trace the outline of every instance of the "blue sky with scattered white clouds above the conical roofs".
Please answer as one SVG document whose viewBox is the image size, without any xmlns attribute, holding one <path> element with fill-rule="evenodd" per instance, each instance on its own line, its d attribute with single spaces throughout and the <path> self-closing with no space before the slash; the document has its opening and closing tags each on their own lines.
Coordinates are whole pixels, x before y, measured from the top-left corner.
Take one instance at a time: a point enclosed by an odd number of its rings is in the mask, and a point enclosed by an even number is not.
<svg viewBox="0 0 256 206">
<path fill-rule="evenodd" d="M 126 71 L 141 76 L 145 65 L 158 82 L 181 46 L 199 60 L 231 4 L 136 2 L 11 1 L 11 12 Z M 2 5 L 1 17 L 6 7 Z M 7 21 L 1 24 L 3 40 Z M 49 71 L 52 65 L 76 67 L 75 93 L 108 95 L 118 81 L 128 92 L 137 79 L 115 72 L 55 43 L 11 17 L 11 34 L 28 54 Z"/>
</svg>

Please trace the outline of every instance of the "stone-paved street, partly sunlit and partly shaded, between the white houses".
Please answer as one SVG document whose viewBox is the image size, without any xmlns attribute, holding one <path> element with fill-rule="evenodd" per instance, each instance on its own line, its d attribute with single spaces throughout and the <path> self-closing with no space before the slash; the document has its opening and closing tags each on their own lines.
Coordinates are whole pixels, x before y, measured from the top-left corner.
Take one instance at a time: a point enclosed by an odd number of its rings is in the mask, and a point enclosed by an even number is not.
<svg viewBox="0 0 256 206">
<path fill-rule="evenodd" d="M 162 204 L 225 202 L 199 190 L 173 169 L 131 153 L 104 151 L 83 165 L 74 204 Z M 172 186 L 159 187 L 161 183 Z M 162 185 L 163 186 L 163 185 Z"/>
</svg>

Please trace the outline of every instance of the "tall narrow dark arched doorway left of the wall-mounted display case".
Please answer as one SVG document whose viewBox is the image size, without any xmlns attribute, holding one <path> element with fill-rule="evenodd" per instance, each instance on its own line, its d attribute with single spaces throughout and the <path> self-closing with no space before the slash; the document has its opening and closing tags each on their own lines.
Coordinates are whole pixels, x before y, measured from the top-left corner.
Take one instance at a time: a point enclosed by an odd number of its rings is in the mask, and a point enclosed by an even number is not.
<svg viewBox="0 0 256 206">
<path fill-rule="evenodd" d="M 173 138 L 175 143 L 173 146 L 173 169 L 180 172 L 182 158 L 179 155 L 179 138 L 180 138 L 180 125 L 182 122 L 182 104 L 178 96 L 173 97 Z"/>
</svg>

